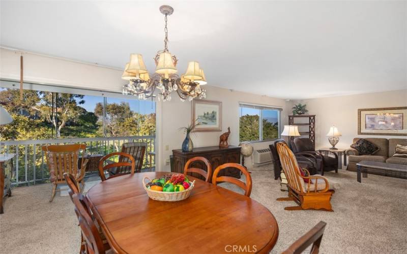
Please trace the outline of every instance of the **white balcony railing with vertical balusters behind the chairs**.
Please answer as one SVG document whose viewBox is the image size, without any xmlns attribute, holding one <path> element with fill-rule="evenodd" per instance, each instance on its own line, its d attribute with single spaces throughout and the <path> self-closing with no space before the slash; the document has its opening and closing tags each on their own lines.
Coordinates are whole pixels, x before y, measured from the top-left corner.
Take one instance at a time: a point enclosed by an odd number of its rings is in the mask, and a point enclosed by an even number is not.
<svg viewBox="0 0 407 254">
<path fill-rule="evenodd" d="M 72 139 L 46 139 L 46 140 L 18 140 L 2 141 L 0 153 L 15 153 L 13 162 L 12 184 L 36 184 L 49 179 L 49 170 L 41 146 L 81 143 L 86 144 L 86 154 L 108 154 L 121 150 L 126 142 L 146 142 L 148 144 L 144 155 L 143 167 L 155 166 L 155 156 L 149 152 L 155 151 L 155 136 L 129 136 L 105 138 L 72 138 Z"/>
</svg>

